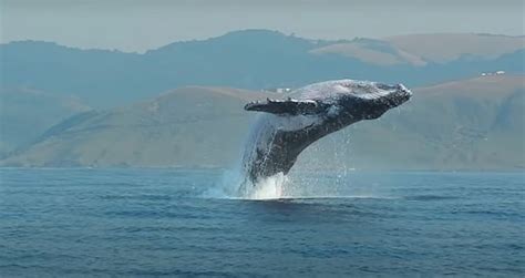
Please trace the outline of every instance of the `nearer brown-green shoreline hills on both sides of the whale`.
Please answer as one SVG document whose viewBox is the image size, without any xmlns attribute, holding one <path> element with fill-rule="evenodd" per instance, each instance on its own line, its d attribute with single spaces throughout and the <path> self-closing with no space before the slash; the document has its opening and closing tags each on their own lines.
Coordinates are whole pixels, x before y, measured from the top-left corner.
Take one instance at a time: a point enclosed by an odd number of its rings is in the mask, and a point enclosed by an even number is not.
<svg viewBox="0 0 525 278">
<path fill-rule="evenodd" d="M 297 167 L 523 169 L 525 76 L 492 75 L 413 89 L 414 97 L 378 121 L 322 138 Z M 11 166 L 228 167 L 267 94 L 188 86 L 150 101 L 87 112 L 50 128 L 4 159 Z"/>
</svg>

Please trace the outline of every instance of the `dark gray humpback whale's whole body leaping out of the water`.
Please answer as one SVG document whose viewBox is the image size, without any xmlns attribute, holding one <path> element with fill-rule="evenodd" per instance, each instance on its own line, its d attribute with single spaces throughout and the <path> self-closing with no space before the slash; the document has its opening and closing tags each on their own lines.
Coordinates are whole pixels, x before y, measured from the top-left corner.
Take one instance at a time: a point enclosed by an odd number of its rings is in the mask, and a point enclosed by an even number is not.
<svg viewBox="0 0 525 278">
<path fill-rule="evenodd" d="M 246 145 L 245 174 L 253 185 L 286 175 L 311 143 L 361 120 L 378 119 L 411 96 L 402 84 L 334 80 L 295 90 L 282 100 L 248 103 L 245 110 L 265 113 Z"/>
</svg>

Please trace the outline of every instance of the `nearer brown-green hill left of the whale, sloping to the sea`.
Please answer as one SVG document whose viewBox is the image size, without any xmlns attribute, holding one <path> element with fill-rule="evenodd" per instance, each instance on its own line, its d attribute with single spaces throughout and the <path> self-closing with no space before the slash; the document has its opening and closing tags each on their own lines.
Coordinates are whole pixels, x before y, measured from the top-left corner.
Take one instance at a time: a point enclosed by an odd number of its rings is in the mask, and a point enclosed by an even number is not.
<svg viewBox="0 0 525 278">
<path fill-rule="evenodd" d="M 22 166 L 217 166 L 238 155 L 256 92 L 182 87 L 154 100 L 72 116 L 7 161 Z"/>
</svg>

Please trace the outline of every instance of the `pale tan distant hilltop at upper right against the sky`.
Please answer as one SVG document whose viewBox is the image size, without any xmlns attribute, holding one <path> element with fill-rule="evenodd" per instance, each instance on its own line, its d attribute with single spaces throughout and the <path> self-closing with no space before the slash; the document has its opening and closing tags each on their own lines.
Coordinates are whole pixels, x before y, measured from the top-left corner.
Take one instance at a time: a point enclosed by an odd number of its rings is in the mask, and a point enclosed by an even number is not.
<svg viewBox="0 0 525 278">
<path fill-rule="evenodd" d="M 389 37 L 381 40 L 358 38 L 329 43 L 312 53 L 332 53 L 378 65 L 446 64 L 460 59 L 493 60 L 525 48 L 525 37 L 476 33 L 430 33 Z M 523 64 L 522 64 L 523 68 Z"/>
</svg>

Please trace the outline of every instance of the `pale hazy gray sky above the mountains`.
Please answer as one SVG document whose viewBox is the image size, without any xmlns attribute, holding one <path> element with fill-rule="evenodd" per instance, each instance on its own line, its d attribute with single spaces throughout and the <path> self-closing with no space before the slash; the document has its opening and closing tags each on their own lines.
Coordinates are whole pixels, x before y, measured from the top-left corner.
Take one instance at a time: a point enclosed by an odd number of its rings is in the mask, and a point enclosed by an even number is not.
<svg viewBox="0 0 525 278">
<path fill-rule="evenodd" d="M 254 28 L 312 39 L 523 35 L 524 13 L 523 0 L 0 0 L 0 39 L 143 52 Z"/>
</svg>

